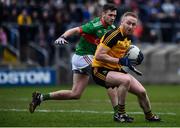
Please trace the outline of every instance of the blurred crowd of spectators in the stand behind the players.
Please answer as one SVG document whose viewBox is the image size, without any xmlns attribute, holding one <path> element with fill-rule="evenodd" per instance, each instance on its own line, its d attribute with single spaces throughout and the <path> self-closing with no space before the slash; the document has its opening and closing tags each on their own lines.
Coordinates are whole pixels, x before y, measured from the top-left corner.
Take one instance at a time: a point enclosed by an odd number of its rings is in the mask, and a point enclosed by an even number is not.
<svg viewBox="0 0 180 128">
<path fill-rule="evenodd" d="M 55 64 L 54 40 L 99 16 L 108 2 L 117 5 L 116 25 L 125 11 L 138 13 L 134 43 L 180 43 L 179 0 L 0 0 L 0 62 L 31 58 L 40 66 Z M 78 39 L 69 39 L 70 52 Z"/>
</svg>

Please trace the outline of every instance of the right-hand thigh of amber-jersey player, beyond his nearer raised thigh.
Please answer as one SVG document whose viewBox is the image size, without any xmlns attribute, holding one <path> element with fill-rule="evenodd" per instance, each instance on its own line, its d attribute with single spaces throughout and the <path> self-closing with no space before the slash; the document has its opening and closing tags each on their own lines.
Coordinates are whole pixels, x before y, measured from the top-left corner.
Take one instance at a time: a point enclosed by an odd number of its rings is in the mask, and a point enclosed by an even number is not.
<svg viewBox="0 0 180 128">
<path fill-rule="evenodd" d="M 129 76 L 131 77 L 129 92 L 136 94 L 136 95 L 144 93 L 146 90 L 143 87 L 143 85 L 132 75 L 129 74 Z"/>
</svg>

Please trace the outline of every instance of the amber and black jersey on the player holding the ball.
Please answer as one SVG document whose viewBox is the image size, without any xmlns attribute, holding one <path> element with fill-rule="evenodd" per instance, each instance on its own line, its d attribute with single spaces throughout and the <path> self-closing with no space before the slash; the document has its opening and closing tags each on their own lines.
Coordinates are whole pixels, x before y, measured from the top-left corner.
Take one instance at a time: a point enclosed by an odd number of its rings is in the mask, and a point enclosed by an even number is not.
<svg viewBox="0 0 180 128">
<path fill-rule="evenodd" d="M 123 35 L 122 28 L 117 28 L 109 31 L 101 38 L 97 49 L 100 45 L 109 49 L 107 53 L 109 56 L 121 58 L 125 55 L 127 49 L 131 45 L 131 38 L 129 36 Z M 97 61 L 94 58 L 92 67 L 105 67 L 108 69 L 117 70 L 121 68 L 121 65 Z"/>
</svg>

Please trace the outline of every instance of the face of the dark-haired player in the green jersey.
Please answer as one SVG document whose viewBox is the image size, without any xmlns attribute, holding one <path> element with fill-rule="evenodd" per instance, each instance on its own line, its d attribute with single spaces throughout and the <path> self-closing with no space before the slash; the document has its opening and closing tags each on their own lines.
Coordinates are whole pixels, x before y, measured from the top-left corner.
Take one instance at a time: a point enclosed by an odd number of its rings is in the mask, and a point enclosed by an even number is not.
<svg viewBox="0 0 180 128">
<path fill-rule="evenodd" d="M 111 11 L 107 10 L 106 12 L 103 13 L 103 19 L 106 24 L 112 25 L 116 19 L 117 11 Z"/>
</svg>

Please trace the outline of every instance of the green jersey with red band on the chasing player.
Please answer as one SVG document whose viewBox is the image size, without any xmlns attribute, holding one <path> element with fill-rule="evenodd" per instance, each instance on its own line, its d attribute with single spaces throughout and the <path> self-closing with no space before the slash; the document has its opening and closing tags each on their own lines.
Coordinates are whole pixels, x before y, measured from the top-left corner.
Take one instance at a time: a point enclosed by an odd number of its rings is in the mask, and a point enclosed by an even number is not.
<svg viewBox="0 0 180 128">
<path fill-rule="evenodd" d="M 80 40 L 76 47 L 77 55 L 94 55 L 101 37 L 114 29 L 114 25 L 107 26 L 99 17 L 94 18 L 80 28 Z"/>
</svg>

